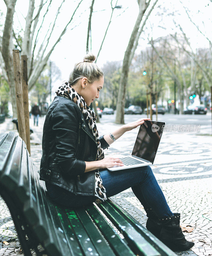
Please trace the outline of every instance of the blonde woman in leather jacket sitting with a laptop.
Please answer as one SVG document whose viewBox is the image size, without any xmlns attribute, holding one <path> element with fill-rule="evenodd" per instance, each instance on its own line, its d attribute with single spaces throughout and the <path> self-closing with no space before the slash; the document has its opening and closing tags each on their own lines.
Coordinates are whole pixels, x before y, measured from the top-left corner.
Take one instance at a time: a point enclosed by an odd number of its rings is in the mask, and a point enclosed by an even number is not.
<svg viewBox="0 0 212 256">
<path fill-rule="evenodd" d="M 147 229 L 172 250 L 188 250 L 194 243 L 186 241 L 179 227 L 180 214 L 170 211 L 149 166 L 116 172 L 106 169 L 123 163 L 117 157 L 104 158 L 103 149 L 149 118 L 99 137 L 95 113 L 88 107 L 99 98 L 104 84 L 103 72 L 94 60 L 93 54 L 87 54 L 75 65 L 49 106 L 40 179 L 45 180 L 50 198 L 67 207 L 98 203 L 131 187 L 147 212 Z"/>
</svg>

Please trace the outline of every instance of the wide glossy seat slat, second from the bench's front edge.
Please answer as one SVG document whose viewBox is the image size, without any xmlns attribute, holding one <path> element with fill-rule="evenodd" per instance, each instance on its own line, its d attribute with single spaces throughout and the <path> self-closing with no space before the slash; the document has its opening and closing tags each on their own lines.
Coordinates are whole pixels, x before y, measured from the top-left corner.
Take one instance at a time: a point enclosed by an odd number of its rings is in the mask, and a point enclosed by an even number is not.
<svg viewBox="0 0 212 256">
<path fill-rule="evenodd" d="M 125 239 L 129 243 L 129 246 L 131 246 L 131 249 L 133 248 L 133 251 L 135 250 L 135 253 L 141 252 L 142 255 L 144 256 L 161 255 L 107 201 L 104 202 L 103 204 L 100 204 L 99 208 L 117 227 L 117 229 L 124 235 Z"/>
</svg>

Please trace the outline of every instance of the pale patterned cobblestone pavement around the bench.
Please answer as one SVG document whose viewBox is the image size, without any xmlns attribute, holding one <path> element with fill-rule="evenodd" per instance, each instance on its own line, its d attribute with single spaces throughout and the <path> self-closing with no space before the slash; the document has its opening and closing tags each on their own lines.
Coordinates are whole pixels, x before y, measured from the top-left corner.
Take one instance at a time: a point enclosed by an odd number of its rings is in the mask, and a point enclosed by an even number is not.
<svg viewBox="0 0 212 256">
<path fill-rule="evenodd" d="M 42 156 L 43 123 L 44 117 L 40 118 L 38 127 L 30 119 L 30 126 L 34 130 L 31 135 L 31 156 L 38 169 Z M 101 135 L 112 132 L 119 125 L 102 122 L 97 126 Z M 0 124 L 0 134 L 10 130 L 16 131 L 11 119 L 6 119 L 4 124 Z M 138 129 L 134 129 L 125 133 L 104 151 L 105 156 L 131 154 L 137 132 Z M 204 131 L 204 127 L 199 133 L 164 132 L 152 166 L 171 211 L 181 213 L 181 224 L 194 227 L 191 233 L 184 234 L 195 245 L 187 252 L 177 252 L 182 256 L 212 255 L 212 136 L 203 135 L 209 132 L 209 129 Z M 145 226 L 146 213 L 131 188 L 112 198 Z M 3 241 L 8 241 L 9 245 L 2 244 Z M 0 256 L 17 255 L 15 250 L 19 250 L 19 247 L 10 212 L 0 198 Z"/>
</svg>

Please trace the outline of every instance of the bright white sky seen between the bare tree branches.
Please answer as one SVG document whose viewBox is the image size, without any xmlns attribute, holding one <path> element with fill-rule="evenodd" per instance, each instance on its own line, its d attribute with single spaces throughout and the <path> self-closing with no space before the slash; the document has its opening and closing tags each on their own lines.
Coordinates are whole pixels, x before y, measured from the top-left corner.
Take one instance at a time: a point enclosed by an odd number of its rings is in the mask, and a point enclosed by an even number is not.
<svg viewBox="0 0 212 256">
<path fill-rule="evenodd" d="M 41 35 L 39 36 L 40 42 L 43 39 L 43 36 L 47 33 L 50 22 L 54 21 L 55 13 L 57 12 L 58 3 L 60 1 L 52 1 L 52 8 L 50 9 L 48 19 L 45 21 L 43 26 L 43 30 Z M 54 3 L 55 2 L 55 3 Z M 153 2 L 153 0 L 152 0 Z M 39 1 L 35 1 L 38 5 Z M 57 39 L 57 36 L 61 33 L 63 28 L 65 27 L 67 21 L 72 16 L 72 12 L 75 9 L 78 1 L 65 1 L 63 5 L 63 9 L 58 16 L 56 29 L 54 31 L 52 40 L 50 40 L 49 44 L 52 45 L 53 42 Z M 103 3 L 103 4 L 102 4 Z M 209 3 L 209 6 L 207 6 Z M 50 59 L 56 62 L 56 65 L 62 71 L 62 78 L 67 79 L 69 73 L 74 67 L 76 62 L 80 62 L 83 60 L 86 50 L 86 40 L 87 40 L 87 25 L 89 18 L 89 6 L 91 4 L 91 0 L 83 0 L 80 5 L 79 10 L 76 12 L 73 20 L 73 24 L 70 24 L 66 34 L 62 37 L 61 41 L 55 47 Z M 113 0 L 113 6 L 115 1 Z M 202 1 L 194 1 L 194 0 L 184 0 L 183 4 L 189 8 L 191 11 L 191 15 L 196 23 L 203 29 L 203 31 L 211 38 L 211 13 L 212 13 L 212 3 L 209 0 Z M 104 41 L 102 51 L 98 58 L 97 63 L 102 66 L 106 61 L 112 60 L 122 60 L 124 58 L 124 53 L 131 35 L 131 32 L 134 27 L 135 20 L 138 14 L 138 4 L 136 0 L 127 1 L 127 0 L 119 0 L 117 5 L 122 5 L 122 9 L 115 9 L 114 15 L 112 18 L 112 22 L 110 24 L 106 39 Z M 161 6 L 159 8 L 158 6 Z M 128 8 L 127 8 L 128 7 Z M 167 12 L 163 12 L 163 7 L 165 9 L 169 9 Z M 127 8 L 127 9 L 126 9 Z M 126 10 L 125 10 L 126 9 Z M 0 10 L 6 14 L 6 6 L 3 0 L 0 0 Z M 17 15 L 14 16 L 14 23 L 17 28 L 20 28 L 19 22 L 22 27 L 25 27 L 24 17 L 26 17 L 28 10 L 28 1 L 27 0 L 17 0 L 16 4 L 16 12 Z M 104 10 L 104 11 L 100 11 Z M 124 13 L 122 13 L 125 10 Z M 200 12 L 198 12 L 198 10 Z M 147 37 L 148 33 L 150 33 L 150 37 L 153 36 L 153 39 L 165 36 L 170 33 L 174 33 L 176 28 L 172 22 L 173 16 L 168 15 L 170 12 L 173 12 L 174 18 L 176 22 L 180 23 L 184 28 L 187 37 L 190 37 L 190 41 L 193 49 L 198 47 L 208 47 L 207 40 L 204 39 L 200 33 L 197 33 L 197 29 L 191 24 L 188 20 L 185 10 L 183 9 L 183 5 L 179 0 L 171 1 L 171 0 L 158 0 L 155 9 L 151 13 L 148 22 L 145 27 L 145 34 L 141 35 L 144 39 L 140 39 L 139 46 L 137 48 L 137 52 L 141 49 L 147 47 Z M 102 38 L 105 33 L 105 29 L 108 25 L 108 21 L 110 19 L 110 0 L 109 1 L 101 1 L 95 0 L 94 4 L 94 13 L 92 16 L 92 52 L 97 55 L 99 47 L 102 42 Z M 118 16 L 118 14 L 120 14 Z M 17 19 L 19 17 L 19 22 Z M 76 19 L 76 17 L 78 17 Z M 4 20 L 0 23 L 2 24 Z M 202 24 L 204 22 L 205 28 Z M 73 30 L 75 25 L 77 25 Z M 164 27 L 160 28 L 158 25 Z M 151 32 L 151 27 L 153 27 Z"/>
</svg>

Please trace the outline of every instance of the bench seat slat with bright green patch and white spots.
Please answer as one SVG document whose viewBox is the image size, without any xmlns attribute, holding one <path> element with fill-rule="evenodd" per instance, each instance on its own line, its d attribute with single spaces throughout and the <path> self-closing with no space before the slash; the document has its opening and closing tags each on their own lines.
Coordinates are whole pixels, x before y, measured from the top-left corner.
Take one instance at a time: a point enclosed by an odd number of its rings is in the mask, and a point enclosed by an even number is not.
<svg viewBox="0 0 212 256">
<path fill-rule="evenodd" d="M 78 238 L 81 248 L 86 256 L 97 255 L 97 251 L 90 241 L 90 237 L 87 235 L 87 232 L 84 230 L 82 223 L 80 222 L 77 214 L 74 210 L 66 210 L 66 216 L 70 221 L 70 225 L 74 230 L 75 236 Z"/>
</svg>

